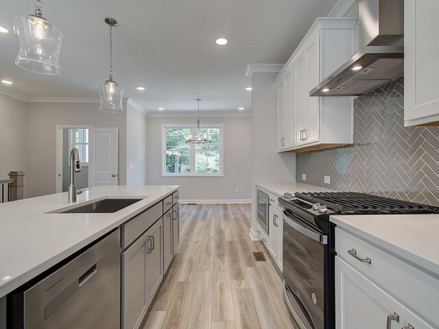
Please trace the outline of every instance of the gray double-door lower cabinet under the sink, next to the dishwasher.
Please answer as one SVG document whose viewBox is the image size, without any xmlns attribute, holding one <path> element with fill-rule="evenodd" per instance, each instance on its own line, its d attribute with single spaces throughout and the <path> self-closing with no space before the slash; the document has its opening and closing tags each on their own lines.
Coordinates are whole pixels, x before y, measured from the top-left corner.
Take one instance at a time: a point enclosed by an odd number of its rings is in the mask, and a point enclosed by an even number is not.
<svg viewBox="0 0 439 329">
<path fill-rule="evenodd" d="M 122 328 L 139 328 L 163 280 L 163 219 L 139 236 L 122 257 Z"/>
</svg>

